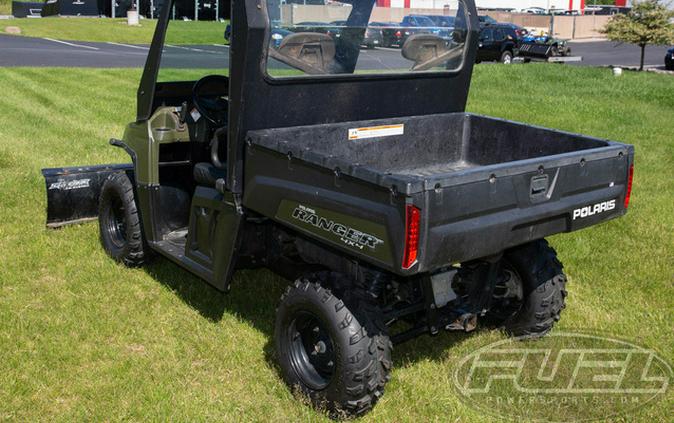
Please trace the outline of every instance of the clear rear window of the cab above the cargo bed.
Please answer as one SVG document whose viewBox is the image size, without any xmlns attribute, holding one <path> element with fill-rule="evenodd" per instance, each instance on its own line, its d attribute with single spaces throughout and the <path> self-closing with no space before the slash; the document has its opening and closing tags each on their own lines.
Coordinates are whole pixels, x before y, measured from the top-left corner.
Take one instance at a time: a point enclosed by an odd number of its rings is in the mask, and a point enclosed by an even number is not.
<svg viewBox="0 0 674 423">
<path fill-rule="evenodd" d="M 462 1 L 425 15 L 374 7 L 374 0 L 267 0 L 267 73 L 275 78 L 454 71 L 464 61 Z"/>
</svg>

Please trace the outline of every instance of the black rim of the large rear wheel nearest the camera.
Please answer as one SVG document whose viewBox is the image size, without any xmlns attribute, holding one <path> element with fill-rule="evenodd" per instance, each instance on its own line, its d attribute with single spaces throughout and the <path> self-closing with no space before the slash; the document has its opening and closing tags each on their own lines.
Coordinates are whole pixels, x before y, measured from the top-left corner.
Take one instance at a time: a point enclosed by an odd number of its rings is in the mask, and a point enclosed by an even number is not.
<svg viewBox="0 0 674 423">
<path fill-rule="evenodd" d="M 296 314 L 288 326 L 289 356 L 299 378 L 312 389 L 323 389 L 335 373 L 335 350 L 325 325 L 307 311 Z"/>
</svg>

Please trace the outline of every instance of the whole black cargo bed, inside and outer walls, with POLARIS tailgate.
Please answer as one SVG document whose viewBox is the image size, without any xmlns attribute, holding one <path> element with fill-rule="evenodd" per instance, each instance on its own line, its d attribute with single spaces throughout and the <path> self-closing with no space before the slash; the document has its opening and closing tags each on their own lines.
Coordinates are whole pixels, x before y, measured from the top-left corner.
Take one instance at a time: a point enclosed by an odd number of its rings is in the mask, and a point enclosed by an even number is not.
<svg viewBox="0 0 674 423">
<path fill-rule="evenodd" d="M 421 209 L 417 271 L 624 214 L 633 157 L 625 144 L 467 113 L 252 131 L 248 144 L 244 205 L 278 215 L 292 198 L 383 221 L 392 251 L 369 257 L 379 265 L 400 263 L 404 204 Z"/>
</svg>

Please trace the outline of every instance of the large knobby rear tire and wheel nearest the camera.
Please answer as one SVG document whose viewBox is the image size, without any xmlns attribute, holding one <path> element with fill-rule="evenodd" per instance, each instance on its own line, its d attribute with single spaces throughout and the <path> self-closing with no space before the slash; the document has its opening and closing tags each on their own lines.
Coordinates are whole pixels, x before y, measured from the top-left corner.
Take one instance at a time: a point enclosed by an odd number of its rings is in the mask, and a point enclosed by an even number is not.
<svg viewBox="0 0 674 423">
<path fill-rule="evenodd" d="M 361 415 L 384 393 L 391 341 L 377 307 L 337 297 L 326 279 L 300 278 L 281 297 L 274 330 L 281 373 L 315 406 Z"/>
</svg>

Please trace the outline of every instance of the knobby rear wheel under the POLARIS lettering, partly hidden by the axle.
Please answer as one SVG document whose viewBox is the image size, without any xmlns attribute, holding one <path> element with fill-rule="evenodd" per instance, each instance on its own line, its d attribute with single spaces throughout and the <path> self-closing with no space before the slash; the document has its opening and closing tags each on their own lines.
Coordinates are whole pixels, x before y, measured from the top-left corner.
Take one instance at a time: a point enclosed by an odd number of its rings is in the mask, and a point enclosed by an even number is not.
<svg viewBox="0 0 674 423">
<path fill-rule="evenodd" d="M 557 253 L 544 239 L 506 251 L 503 268 L 521 281 L 522 301 L 509 316 L 491 313 L 492 320 L 510 335 L 525 338 L 545 336 L 559 321 L 565 308 L 566 275 Z"/>
</svg>

